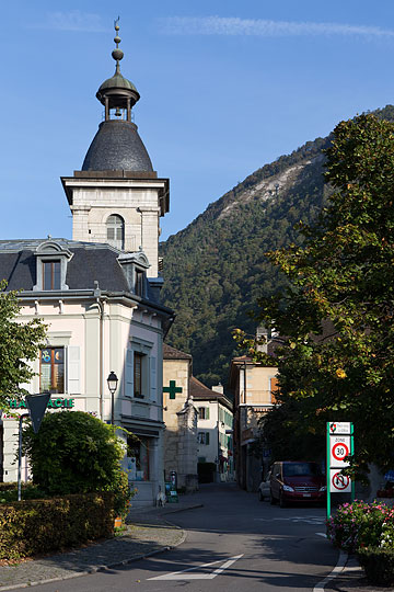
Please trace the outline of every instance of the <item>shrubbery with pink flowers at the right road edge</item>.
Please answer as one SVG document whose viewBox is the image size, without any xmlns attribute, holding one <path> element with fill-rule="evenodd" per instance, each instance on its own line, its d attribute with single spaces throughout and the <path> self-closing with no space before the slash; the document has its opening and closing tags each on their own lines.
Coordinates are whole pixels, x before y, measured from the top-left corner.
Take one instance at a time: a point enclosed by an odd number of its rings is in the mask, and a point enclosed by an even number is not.
<svg viewBox="0 0 394 592">
<path fill-rule="evenodd" d="M 393 508 L 379 502 L 345 503 L 327 521 L 327 537 L 336 547 L 357 553 L 371 583 L 394 583 Z"/>
</svg>

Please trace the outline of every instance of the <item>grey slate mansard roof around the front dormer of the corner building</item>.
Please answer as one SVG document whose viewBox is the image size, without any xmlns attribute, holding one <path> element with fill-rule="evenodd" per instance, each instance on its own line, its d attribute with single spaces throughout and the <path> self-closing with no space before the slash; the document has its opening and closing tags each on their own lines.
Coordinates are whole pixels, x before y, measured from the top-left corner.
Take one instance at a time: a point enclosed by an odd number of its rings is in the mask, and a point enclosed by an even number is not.
<svg viewBox="0 0 394 592">
<path fill-rule="evenodd" d="M 8 289 L 31 291 L 36 284 L 35 249 L 47 239 L 0 241 L 0 280 L 8 281 Z M 128 284 L 117 261 L 119 251 L 109 244 L 53 239 L 73 254 L 67 265 L 69 289 L 100 289 L 128 292 Z"/>
</svg>

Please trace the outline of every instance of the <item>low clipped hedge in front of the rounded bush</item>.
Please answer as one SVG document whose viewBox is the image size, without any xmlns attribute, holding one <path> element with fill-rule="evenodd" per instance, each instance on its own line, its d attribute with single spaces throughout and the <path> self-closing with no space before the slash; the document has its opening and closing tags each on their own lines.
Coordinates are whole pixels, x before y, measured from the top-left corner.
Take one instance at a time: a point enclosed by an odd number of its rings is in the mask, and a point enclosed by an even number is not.
<svg viewBox="0 0 394 592">
<path fill-rule="evenodd" d="M 108 537 L 114 494 L 70 494 L 0 504 L 0 559 L 19 559 Z"/>
</svg>

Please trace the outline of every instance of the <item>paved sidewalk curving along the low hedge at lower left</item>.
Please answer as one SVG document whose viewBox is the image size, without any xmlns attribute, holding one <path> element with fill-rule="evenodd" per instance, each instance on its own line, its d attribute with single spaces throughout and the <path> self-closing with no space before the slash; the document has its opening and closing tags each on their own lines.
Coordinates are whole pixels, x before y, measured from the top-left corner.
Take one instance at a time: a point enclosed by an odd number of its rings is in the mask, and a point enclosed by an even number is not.
<svg viewBox="0 0 394 592">
<path fill-rule="evenodd" d="M 127 531 L 120 536 L 92 543 L 67 553 L 23 560 L 0 567 L 0 591 L 77 578 L 105 568 L 115 568 L 181 545 L 186 533 L 171 522 L 171 514 L 200 508 L 197 500 L 164 508 L 131 510 Z"/>
</svg>

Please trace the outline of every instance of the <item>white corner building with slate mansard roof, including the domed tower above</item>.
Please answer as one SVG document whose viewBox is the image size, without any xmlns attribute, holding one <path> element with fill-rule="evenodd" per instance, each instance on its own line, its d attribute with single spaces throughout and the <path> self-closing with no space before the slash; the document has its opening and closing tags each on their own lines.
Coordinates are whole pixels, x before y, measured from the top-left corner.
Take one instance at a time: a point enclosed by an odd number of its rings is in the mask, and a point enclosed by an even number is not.
<svg viewBox="0 0 394 592">
<path fill-rule="evenodd" d="M 160 217 L 169 212 L 169 179 L 153 170 L 131 121 L 140 99 L 120 73 L 96 98 L 105 119 L 82 170 L 61 178 L 72 213 L 72 240 L 0 241 L 0 278 L 20 289 L 21 320 L 42 318 L 46 346 L 31 392 L 49 390 L 49 412 L 81 410 L 125 428 L 124 466 L 137 488 L 134 505 L 152 504 L 164 488 L 163 339 L 173 312 L 161 305 Z M 107 377 L 114 372 L 114 395 Z M 11 401 L 16 412 L 24 403 Z M 18 422 L 0 421 L 0 478 L 16 480 Z M 24 478 L 28 467 L 24 464 Z"/>
</svg>

